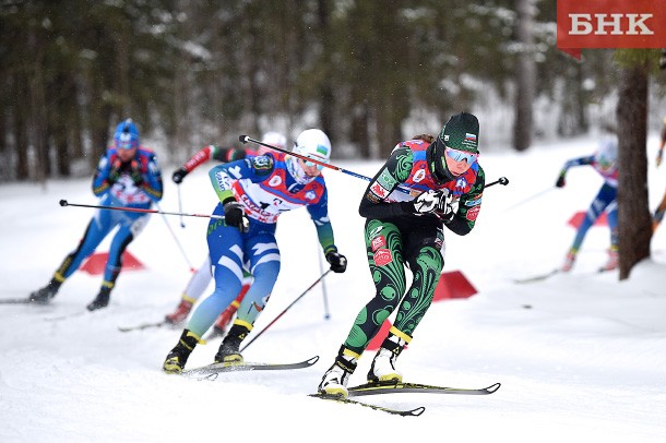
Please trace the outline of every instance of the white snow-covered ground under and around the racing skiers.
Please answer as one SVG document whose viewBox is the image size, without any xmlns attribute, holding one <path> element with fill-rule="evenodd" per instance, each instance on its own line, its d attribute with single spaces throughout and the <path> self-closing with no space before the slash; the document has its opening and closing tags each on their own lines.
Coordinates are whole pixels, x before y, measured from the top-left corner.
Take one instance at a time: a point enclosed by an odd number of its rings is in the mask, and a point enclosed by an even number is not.
<svg viewBox="0 0 666 443">
<path fill-rule="evenodd" d="M 651 163 L 656 143 L 650 139 Z M 366 182 L 326 170 L 336 242 L 349 268 L 329 275 L 243 352 L 246 360 L 275 362 L 320 356 L 317 364 L 212 382 L 164 374 L 162 362 L 181 330 L 118 327 L 159 321 L 175 308 L 190 267 L 205 256 L 207 220 L 187 217 L 181 228 L 179 217 L 153 215 L 129 249 L 145 270 L 121 274 L 107 309 L 85 311 L 100 276 L 82 272 L 49 306 L 0 306 L 0 441 L 666 441 L 666 229 L 656 232 L 652 259 L 629 280 L 594 273 L 609 241 L 606 227 L 594 227 L 571 274 L 514 283 L 561 263 L 574 235 L 567 222 L 587 208 L 600 178 L 580 167 L 570 170 L 564 189 L 554 183 L 566 159 L 594 148 L 594 141 L 579 140 L 481 155 L 488 181 L 504 176 L 510 184 L 485 192 L 472 234 L 447 234 L 445 271 L 463 272 L 478 294 L 433 303 L 399 366 L 413 382 L 501 382 L 493 395 L 365 397 L 399 408 L 425 406 L 418 418 L 307 396 L 373 292 L 357 214 Z M 372 176 L 379 163 L 338 166 Z M 651 208 L 666 190 L 664 168 L 650 166 Z M 182 184 L 185 212 L 213 208 L 205 169 Z M 160 208 L 175 212 L 170 172 L 165 170 Z M 93 209 L 60 207 L 60 199 L 96 203 L 88 180 L 0 187 L 0 298 L 25 297 L 45 285 L 76 246 Z M 283 215 L 277 238 L 283 272 L 255 332 L 323 270 L 305 209 Z M 105 241 L 98 251 L 107 247 Z M 198 347 L 188 367 L 211 362 L 218 343 Z M 365 381 L 370 361 L 371 355 L 360 360 L 353 384 Z"/>
</svg>

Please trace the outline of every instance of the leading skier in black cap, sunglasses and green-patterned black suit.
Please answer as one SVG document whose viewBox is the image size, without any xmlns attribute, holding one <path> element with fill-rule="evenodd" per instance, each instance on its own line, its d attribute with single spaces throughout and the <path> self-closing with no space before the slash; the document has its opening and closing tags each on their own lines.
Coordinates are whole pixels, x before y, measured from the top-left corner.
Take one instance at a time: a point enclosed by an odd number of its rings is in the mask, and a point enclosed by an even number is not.
<svg viewBox="0 0 666 443">
<path fill-rule="evenodd" d="M 367 218 L 365 238 L 376 294 L 356 316 L 320 392 L 347 395 L 358 359 L 396 308 L 368 381 L 402 381 L 395 360 L 432 302 L 444 265 L 444 226 L 464 236 L 480 209 L 485 177 L 477 161 L 478 130 L 475 116 L 455 115 L 437 139 L 419 135 L 399 143 L 370 181 L 359 213 Z M 408 289 L 405 264 L 413 273 Z"/>
</svg>

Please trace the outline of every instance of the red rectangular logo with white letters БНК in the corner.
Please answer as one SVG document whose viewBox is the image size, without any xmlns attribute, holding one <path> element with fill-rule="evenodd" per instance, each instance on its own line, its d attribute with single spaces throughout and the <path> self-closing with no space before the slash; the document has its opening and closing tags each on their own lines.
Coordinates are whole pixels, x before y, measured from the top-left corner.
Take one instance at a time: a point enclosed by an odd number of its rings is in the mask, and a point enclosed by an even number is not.
<svg viewBox="0 0 666 443">
<path fill-rule="evenodd" d="M 666 0 L 557 0 L 557 47 L 666 48 Z"/>
</svg>

